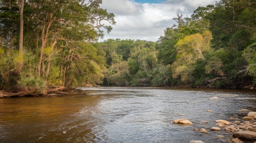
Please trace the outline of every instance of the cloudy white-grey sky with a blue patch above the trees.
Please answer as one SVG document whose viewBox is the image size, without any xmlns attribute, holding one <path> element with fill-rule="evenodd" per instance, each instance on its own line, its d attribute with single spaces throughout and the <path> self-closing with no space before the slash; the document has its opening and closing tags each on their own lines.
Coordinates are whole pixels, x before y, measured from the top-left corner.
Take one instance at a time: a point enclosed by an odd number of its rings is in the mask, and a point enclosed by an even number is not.
<svg viewBox="0 0 256 143">
<path fill-rule="evenodd" d="M 157 41 L 166 28 L 177 24 L 173 18 L 178 13 L 190 17 L 198 6 L 215 3 L 216 0 L 103 0 L 101 8 L 114 13 L 116 25 L 99 41 L 117 38 Z"/>
</svg>

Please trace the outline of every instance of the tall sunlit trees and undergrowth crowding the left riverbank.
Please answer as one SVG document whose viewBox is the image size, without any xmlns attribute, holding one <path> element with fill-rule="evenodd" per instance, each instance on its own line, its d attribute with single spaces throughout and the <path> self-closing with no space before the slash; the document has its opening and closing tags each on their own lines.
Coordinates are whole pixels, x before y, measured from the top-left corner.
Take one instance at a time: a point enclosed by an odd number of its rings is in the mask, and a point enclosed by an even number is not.
<svg viewBox="0 0 256 143">
<path fill-rule="evenodd" d="M 101 83 L 105 52 L 92 42 L 103 36 L 101 28 L 112 30 L 103 22 L 115 21 L 114 14 L 100 8 L 100 3 L 1 0 L 0 89 L 45 93 L 50 87 Z"/>
</svg>

